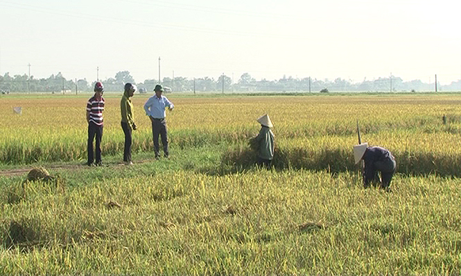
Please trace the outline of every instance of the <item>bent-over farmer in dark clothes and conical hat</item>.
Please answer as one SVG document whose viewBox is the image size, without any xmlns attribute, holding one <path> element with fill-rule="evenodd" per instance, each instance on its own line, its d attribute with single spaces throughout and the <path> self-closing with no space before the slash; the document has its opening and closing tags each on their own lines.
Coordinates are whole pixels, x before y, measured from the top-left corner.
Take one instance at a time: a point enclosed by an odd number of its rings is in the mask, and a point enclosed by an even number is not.
<svg viewBox="0 0 461 276">
<path fill-rule="evenodd" d="M 388 189 L 394 175 L 397 164 L 395 158 L 388 149 L 383 147 L 368 147 L 367 142 L 354 146 L 354 159 L 356 164 L 360 160 L 365 161 L 365 173 L 363 186 L 369 187 L 372 182 L 380 183 L 381 188 Z M 381 172 L 381 181 L 378 176 Z"/>
</svg>

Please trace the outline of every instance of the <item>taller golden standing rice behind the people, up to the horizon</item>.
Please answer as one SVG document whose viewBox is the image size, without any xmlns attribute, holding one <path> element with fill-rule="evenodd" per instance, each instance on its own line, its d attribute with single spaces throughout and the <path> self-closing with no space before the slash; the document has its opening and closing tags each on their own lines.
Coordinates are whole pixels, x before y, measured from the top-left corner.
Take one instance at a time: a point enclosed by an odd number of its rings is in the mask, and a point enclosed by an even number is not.
<svg viewBox="0 0 461 276">
<path fill-rule="evenodd" d="M 327 95 L 185 97 L 169 95 L 175 110 L 167 112 L 171 147 L 229 145 L 226 163 L 247 167 L 252 161 L 233 151 L 259 131 L 256 118 L 270 114 L 277 142 L 277 167 L 354 169 L 351 147 L 356 144 L 356 120 L 363 141 L 392 151 L 399 171 L 459 176 L 460 95 Z M 1 98 L 0 162 L 85 160 L 89 98 L 52 96 Z M 106 97 L 103 113 L 103 155 L 121 154 L 120 98 Z M 153 148 L 150 121 L 143 111 L 146 96 L 135 95 L 133 151 Z M 21 116 L 12 107 L 23 107 Z M 442 116 L 447 123 L 443 125 Z"/>
</svg>

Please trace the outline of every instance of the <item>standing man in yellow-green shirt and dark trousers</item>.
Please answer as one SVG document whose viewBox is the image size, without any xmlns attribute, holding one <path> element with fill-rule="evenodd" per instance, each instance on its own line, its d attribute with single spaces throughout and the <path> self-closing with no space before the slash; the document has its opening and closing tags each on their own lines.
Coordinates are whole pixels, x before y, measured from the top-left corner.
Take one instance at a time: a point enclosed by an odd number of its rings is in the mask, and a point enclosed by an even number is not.
<svg viewBox="0 0 461 276">
<path fill-rule="evenodd" d="M 131 98 L 136 91 L 136 86 L 127 82 L 125 84 L 125 93 L 120 101 L 121 111 L 121 128 L 125 134 L 125 147 L 123 147 L 123 162 L 125 165 L 133 165 L 131 161 L 131 144 L 132 144 L 132 130 L 136 130 L 136 124 L 133 119 L 133 104 Z"/>
</svg>

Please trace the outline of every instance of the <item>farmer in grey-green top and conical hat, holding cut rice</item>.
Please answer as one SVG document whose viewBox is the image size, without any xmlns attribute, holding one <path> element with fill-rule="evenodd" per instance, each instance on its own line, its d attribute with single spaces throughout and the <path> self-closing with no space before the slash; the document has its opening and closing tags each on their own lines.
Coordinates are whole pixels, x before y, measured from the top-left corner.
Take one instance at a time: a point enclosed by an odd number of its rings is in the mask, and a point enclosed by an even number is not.
<svg viewBox="0 0 461 276">
<path fill-rule="evenodd" d="M 258 165 L 270 168 L 272 158 L 274 158 L 274 134 L 270 130 L 273 127 L 268 114 L 259 117 L 258 121 L 261 124 L 261 130 L 258 136 L 254 138 L 256 149 L 258 151 Z"/>
</svg>

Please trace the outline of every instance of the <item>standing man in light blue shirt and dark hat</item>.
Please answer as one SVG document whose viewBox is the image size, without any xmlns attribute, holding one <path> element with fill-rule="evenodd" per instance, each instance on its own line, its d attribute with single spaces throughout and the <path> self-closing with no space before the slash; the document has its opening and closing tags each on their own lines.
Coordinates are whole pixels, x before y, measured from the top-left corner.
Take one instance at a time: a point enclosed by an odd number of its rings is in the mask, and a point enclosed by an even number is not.
<svg viewBox="0 0 461 276">
<path fill-rule="evenodd" d="M 152 122 L 152 136 L 154 140 L 154 152 L 155 159 L 160 158 L 159 154 L 159 135 L 162 136 L 162 145 L 164 147 L 164 156 L 168 158 L 168 137 L 166 135 L 166 120 L 165 120 L 165 108 L 171 111 L 175 107 L 173 102 L 170 102 L 164 95 L 162 95 L 164 89 L 161 85 L 155 86 L 155 95 L 150 97 L 146 104 L 144 104 L 144 110 L 146 115 L 149 116 L 150 122 Z"/>
</svg>

